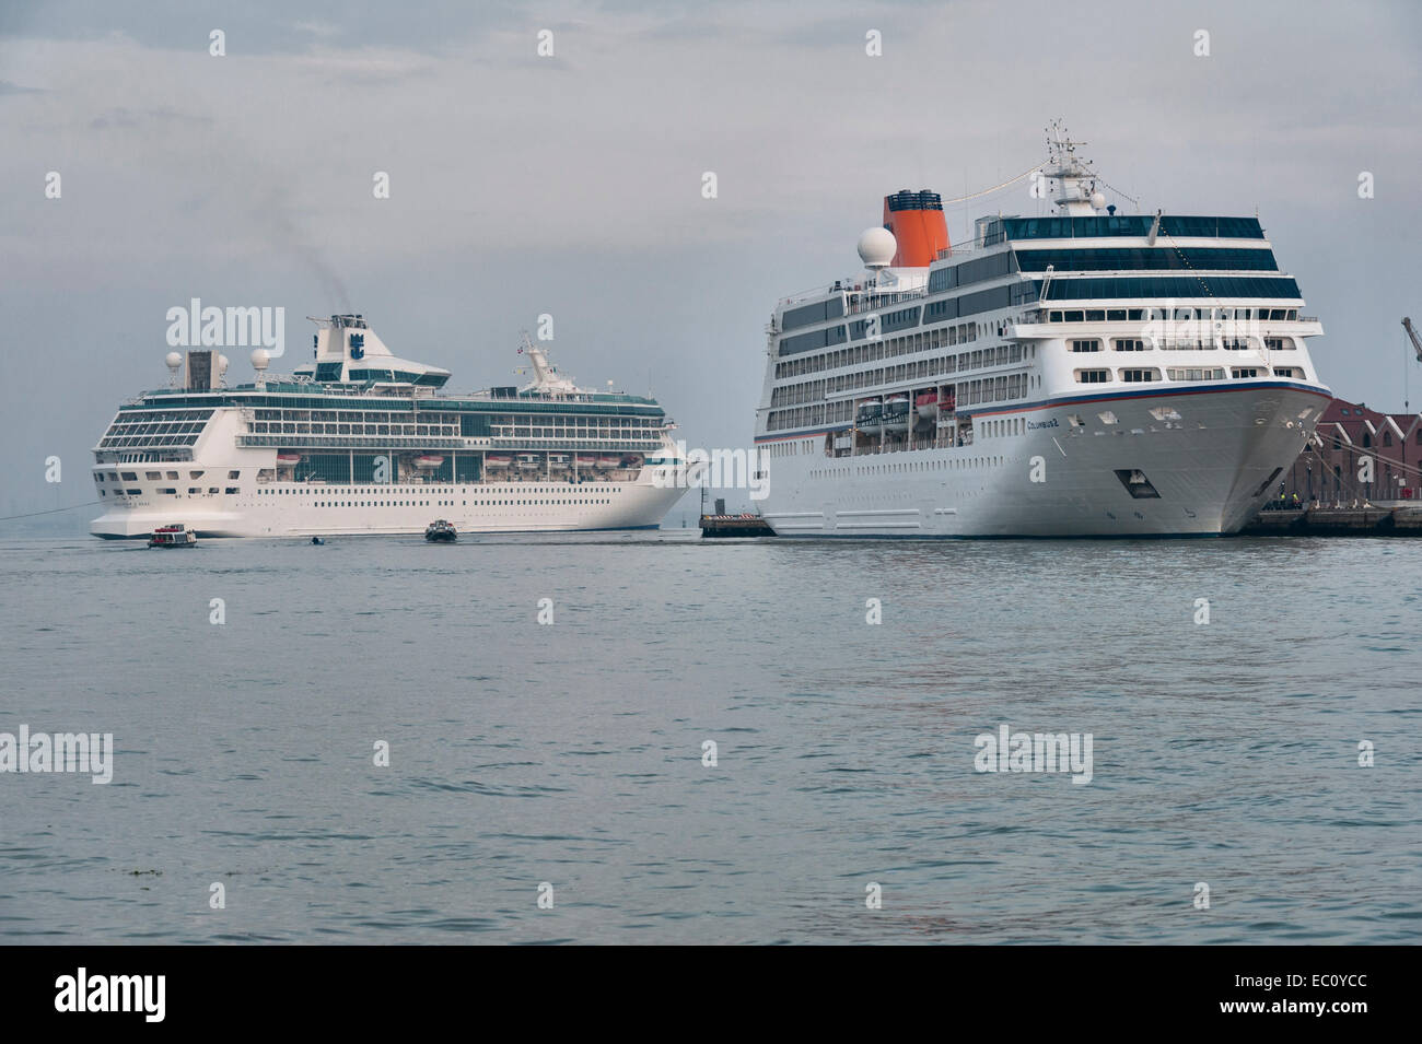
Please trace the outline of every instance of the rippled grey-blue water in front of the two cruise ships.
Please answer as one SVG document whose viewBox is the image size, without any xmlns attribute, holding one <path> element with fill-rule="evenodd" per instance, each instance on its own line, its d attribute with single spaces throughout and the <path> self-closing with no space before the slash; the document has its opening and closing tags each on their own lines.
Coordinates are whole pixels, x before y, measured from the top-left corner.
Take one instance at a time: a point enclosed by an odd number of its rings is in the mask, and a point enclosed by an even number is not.
<svg viewBox="0 0 1422 1044">
<path fill-rule="evenodd" d="M 1415 943 L 1419 575 L 1406 540 L 0 540 L 0 732 L 117 749 L 0 776 L 0 939 Z M 1092 733 L 1091 783 L 975 771 L 1001 723 Z"/>
</svg>

